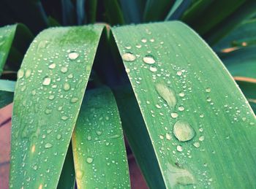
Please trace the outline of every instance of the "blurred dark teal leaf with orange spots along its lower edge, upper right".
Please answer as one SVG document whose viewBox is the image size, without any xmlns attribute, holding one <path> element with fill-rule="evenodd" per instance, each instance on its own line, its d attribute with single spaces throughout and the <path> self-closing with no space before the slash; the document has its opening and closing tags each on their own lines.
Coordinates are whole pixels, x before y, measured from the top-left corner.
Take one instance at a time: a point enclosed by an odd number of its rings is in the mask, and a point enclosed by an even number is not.
<svg viewBox="0 0 256 189">
<path fill-rule="evenodd" d="M 215 51 L 225 50 L 230 47 L 244 47 L 256 45 L 256 19 L 246 20 L 224 39 L 214 46 Z"/>
</svg>

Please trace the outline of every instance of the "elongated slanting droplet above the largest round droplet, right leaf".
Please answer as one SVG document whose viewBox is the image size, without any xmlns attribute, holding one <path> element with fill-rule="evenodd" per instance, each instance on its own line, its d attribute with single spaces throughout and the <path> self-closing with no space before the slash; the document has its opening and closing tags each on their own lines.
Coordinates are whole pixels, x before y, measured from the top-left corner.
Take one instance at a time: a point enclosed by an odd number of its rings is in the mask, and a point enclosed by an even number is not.
<svg viewBox="0 0 256 189">
<path fill-rule="evenodd" d="M 157 93 L 164 99 L 170 108 L 175 107 L 177 100 L 173 90 L 168 88 L 166 85 L 158 83 L 156 85 Z"/>
</svg>

